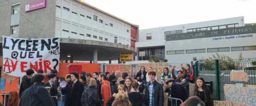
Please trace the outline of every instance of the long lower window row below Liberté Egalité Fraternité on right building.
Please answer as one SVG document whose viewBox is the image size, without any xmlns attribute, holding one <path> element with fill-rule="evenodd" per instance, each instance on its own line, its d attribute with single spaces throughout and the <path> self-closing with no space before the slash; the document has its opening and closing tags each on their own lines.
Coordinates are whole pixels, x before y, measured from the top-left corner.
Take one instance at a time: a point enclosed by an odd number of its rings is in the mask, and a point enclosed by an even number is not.
<svg viewBox="0 0 256 106">
<path fill-rule="evenodd" d="M 256 46 L 231 47 L 231 51 L 250 51 L 250 50 L 256 50 Z M 207 49 L 207 52 L 229 52 L 229 51 L 230 51 L 229 47 Z M 206 53 L 206 49 L 186 50 L 186 54 L 188 53 Z M 167 51 L 167 54 L 185 54 L 185 50 Z"/>
</svg>

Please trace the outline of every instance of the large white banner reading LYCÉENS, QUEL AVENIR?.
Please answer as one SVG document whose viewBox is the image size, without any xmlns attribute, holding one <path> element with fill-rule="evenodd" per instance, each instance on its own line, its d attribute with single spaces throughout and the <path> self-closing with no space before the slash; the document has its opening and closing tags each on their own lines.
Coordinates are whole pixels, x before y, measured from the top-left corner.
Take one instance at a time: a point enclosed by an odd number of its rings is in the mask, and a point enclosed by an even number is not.
<svg viewBox="0 0 256 106">
<path fill-rule="evenodd" d="M 59 70 L 59 38 L 20 39 L 3 37 L 3 71 L 8 75 L 22 77 L 26 70 L 43 69 L 50 73 Z"/>
</svg>

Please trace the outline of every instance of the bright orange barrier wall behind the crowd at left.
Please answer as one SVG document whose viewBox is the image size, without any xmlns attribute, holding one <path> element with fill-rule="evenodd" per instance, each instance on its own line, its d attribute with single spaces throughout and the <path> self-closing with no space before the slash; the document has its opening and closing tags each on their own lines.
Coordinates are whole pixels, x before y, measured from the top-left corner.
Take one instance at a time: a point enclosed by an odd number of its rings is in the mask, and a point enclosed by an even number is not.
<svg viewBox="0 0 256 106">
<path fill-rule="evenodd" d="M 67 74 L 69 74 L 69 67 L 68 65 L 81 65 L 82 66 L 82 71 L 85 71 L 86 73 L 90 72 L 91 74 L 94 72 L 100 72 L 100 64 L 84 64 L 84 63 L 60 63 L 59 64 L 59 72 L 57 73 L 58 77 L 66 77 Z M 80 74 L 80 73 L 79 73 Z M 15 77 L 14 81 L 10 84 L 7 82 L 7 74 L 5 76 L 1 76 L 1 78 L 5 78 L 5 90 L 2 91 L 0 90 L 0 94 L 10 92 L 10 91 L 19 91 L 18 86 L 19 85 L 19 77 Z M 48 76 L 44 79 L 44 82 L 48 81 Z M 2 102 L 3 98 L 0 96 L 0 101 Z M 19 99 L 18 99 L 19 102 Z M 6 103 L 7 104 L 7 103 Z"/>
</svg>

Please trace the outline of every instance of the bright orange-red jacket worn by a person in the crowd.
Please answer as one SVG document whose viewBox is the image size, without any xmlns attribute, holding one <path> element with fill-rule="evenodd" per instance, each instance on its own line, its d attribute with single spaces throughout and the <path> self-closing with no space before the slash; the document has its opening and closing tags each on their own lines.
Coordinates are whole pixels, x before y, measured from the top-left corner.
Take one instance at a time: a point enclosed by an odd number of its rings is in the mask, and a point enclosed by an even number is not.
<svg viewBox="0 0 256 106">
<path fill-rule="evenodd" d="M 111 90 L 110 90 L 110 82 L 108 82 L 107 80 L 102 82 L 101 94 L 102 94 L 102 99 L 103 99 L 103 105 L 106 106 L 107 102 L 112 97 Z"/>
</svg>

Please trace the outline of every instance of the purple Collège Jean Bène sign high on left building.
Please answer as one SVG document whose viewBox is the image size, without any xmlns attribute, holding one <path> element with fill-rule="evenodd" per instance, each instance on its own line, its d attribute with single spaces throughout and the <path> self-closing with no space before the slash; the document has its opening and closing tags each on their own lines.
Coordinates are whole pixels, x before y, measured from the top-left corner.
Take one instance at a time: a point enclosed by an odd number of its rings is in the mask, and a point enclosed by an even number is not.
<svg viewBox="0 0 256 106">
<path fill-rule="evenodd" d="M 44 8 L 44 7 L 46 7 L 46 0 L 31 2 L 25 6 L 25 12 L 37 10 L 39 8 Z"/>
</svg>

